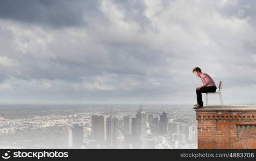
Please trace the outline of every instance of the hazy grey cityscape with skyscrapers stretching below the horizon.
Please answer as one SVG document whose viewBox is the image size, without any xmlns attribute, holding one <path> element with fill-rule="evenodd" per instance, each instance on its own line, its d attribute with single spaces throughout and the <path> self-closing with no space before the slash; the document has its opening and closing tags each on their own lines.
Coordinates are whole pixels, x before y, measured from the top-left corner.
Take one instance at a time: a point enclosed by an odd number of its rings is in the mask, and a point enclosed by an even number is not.
<svg viewBox="0 0 256 161">
<path fill-rule="evenodd" d="M 189 105 L 0 106 L 1 149 L 197 149 Z"/>
</svg>

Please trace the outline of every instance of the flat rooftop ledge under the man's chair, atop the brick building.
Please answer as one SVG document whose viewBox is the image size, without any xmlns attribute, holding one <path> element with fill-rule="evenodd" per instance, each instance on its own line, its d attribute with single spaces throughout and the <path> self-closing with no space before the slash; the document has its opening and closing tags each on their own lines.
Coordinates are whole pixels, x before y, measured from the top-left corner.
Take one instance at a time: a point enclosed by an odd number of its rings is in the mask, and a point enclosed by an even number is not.
<svg viewBox="0 0 256 161">
<path fill-rule="evenodd" d="M 256 105 L 226 105 L 224 107 L 216 106 L 204 106 L 203 108 L 195 109 L 196 112 L 239 112 L 239 111 L 253 111 L 256 112 Z"/>
</svg>

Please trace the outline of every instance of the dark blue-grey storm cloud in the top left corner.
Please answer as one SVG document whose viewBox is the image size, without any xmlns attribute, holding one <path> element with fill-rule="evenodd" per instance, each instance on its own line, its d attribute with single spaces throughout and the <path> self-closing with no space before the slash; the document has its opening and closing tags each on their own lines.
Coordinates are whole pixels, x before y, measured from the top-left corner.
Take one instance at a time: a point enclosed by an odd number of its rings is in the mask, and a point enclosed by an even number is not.
<svg viewBox="0 0 256 161">
<path fill-rule="evenodd" d="M 0 18 L 41 25 L 77 26 L 100 14 L 99 1 L 24 0 L 0 1 Z"/>
</svg>

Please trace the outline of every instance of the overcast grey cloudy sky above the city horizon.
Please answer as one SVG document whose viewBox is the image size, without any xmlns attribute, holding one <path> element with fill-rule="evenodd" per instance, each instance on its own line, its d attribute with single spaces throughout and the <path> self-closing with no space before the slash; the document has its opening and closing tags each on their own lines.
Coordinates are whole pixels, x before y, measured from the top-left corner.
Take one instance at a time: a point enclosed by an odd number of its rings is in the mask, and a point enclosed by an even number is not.
<svg viewBox="0 0 256 161">
<path fill-rule="evenodd" d="M 0 1 L 0 104 L 256 104 L 256 2 Z M 219 104 L 210 96 L 210 104 Z M 205 98 L 205 94 L 203 95 Z"/>
</svg>

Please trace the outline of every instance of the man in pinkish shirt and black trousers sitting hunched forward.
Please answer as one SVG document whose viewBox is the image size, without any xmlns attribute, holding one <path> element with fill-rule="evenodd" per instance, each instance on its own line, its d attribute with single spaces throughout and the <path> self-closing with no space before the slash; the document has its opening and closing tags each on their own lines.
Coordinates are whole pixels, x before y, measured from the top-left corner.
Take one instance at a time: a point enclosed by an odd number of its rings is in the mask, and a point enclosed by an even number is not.
<svg viewBox="0 0 256 161">
<path fill-rule="evenodd" d="M 202 93 L 216 92 L 217 87 L 214 80 L 208 74 L 202 72 L 200 68 L 194 68 L 193 73 L 200 77 L 203 82 L 203 85 L 196 87 L 197 104 L 194 105 L 194 109 L 203 108 Z"/>
</svg>

